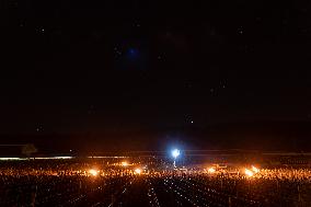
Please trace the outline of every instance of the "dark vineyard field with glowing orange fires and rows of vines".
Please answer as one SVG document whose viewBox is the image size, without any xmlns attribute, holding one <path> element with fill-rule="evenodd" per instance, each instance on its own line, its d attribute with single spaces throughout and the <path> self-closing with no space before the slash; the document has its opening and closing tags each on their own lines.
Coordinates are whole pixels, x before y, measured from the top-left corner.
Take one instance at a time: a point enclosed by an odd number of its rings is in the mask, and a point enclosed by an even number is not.
<svg viewBox="0 0 311 207">
<path fill-rule="evenodd" d="M 247 176 L 152 164 L 1 162 L 0 206 L 311 206 L 308 169 L 261 170 Z"/>
</svg>

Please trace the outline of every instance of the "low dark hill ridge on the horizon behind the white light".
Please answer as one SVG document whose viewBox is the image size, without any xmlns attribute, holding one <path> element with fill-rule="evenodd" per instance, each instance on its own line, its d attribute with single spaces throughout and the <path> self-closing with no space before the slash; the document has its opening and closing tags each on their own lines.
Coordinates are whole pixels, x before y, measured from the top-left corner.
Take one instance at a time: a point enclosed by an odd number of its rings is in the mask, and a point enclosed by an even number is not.
<svg viewBox="0 0 311 207">
<path fill-rule="evenodd" d="M 2 145 L 34 143 L 38 154 L 126 151 L 165 151 L 173 146 L 185 150 L 257 150 L 310 152 L 311 123 L 269 122 L 218 124 L 206 127 L 131 128 L 127 131 L 80 134 L 1 135 Z M 143 141 L 141 141 L 143 140 Z M 1 147 L 2 154 L 20 147 Z M 11 148 L 11 149 L 10 149 Z M 71 151 L 70 151 L 71 150 Z"/>
</svg>

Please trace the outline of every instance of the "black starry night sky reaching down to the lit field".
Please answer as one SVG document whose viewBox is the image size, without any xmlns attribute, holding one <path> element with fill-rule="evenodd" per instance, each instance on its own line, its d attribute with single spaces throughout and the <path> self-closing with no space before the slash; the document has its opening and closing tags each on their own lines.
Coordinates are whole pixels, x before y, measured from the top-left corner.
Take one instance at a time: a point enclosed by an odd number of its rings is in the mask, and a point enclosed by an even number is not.
<svg viewBox="0 0 311 207">
<path fill-rule="evenodd" d="M 2 0 L 0 13 L 1 143 L 308 148 L 310 1 Z"/>
</svg>

